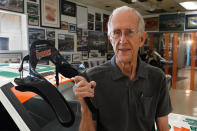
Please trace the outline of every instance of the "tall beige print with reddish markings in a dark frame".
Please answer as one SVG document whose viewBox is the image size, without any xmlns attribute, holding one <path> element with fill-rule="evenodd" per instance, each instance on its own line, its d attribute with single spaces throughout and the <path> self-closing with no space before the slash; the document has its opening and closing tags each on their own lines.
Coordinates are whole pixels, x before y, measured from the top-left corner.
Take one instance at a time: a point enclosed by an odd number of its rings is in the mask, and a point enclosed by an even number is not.
<svg viewBox="0 0 197 131">
<path fill-rule="evenodd" d="M 60 0 L 40 0 L 41 26 L 60 28 Z"/>
</svg>

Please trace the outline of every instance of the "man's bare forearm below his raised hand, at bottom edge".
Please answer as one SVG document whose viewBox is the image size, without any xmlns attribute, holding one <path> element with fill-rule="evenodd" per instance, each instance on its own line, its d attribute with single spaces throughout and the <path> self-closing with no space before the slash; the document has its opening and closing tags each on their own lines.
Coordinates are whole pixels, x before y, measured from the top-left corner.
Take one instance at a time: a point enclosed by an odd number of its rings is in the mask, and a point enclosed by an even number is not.
<svg viewBox="0 0 197 131">
<path fill-rule="evenodd" d="M 81 111 L 81 123 L 79 131 L 96 131 L 96 121 L 92 120 L 92 113 L 89 109 Z"/>
</svg>

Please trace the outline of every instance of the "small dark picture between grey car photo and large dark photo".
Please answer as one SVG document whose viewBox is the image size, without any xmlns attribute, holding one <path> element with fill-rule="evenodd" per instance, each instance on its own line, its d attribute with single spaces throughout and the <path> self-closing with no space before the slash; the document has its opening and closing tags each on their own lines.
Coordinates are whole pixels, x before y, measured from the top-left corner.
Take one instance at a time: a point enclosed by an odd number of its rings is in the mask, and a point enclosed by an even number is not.
<svg viewBox="0 0 197 131">
<path fill-rule="evenodd" d="M 87 50 L 88 50 L 88 37 L 77 36 L 77 51 L 87 51 Z"/>
</svg>

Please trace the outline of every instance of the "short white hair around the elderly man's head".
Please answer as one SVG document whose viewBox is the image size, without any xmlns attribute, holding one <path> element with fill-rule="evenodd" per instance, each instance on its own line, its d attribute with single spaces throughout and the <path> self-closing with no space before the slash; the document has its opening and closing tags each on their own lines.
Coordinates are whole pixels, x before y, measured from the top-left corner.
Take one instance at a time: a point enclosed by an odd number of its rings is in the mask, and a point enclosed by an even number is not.
<svg viewBox="0 0 197 131">
<path fill-rule="evenodd" d="M 114 15 L 116 15 L 117 13 L 121 12 L 121 11 L 130 11 L 130 12 L 135 12 L 139 18 L 139 24 L 138 24 L 138 32 L 139 34 L 141 35 L 143 32 L 144 32 L 144 19 L 142 17 L 142 15 L 134 8 L 131 8 L 131 7 L 128 7 L 128 6 L 121 6 L 119 8 L 116 8 L 113 10 L 112 14 L 109 16 L 109 21 L 108 21 L 108 35 L 110 35 L 112 29 L 111 29 L 111 20 L 112 20 L 112 17 Z"/>
</svg>

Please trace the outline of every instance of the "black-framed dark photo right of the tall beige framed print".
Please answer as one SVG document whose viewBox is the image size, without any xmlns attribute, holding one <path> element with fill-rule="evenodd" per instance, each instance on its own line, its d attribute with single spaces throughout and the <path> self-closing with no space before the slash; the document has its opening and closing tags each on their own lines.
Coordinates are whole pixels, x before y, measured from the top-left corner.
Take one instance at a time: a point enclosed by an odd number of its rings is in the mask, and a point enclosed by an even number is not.
<svg viewBox="0 0 197 131">
<path fill-rule="evenodd" d="M 76 4 L 67 0 L 61 0 L 61 14 L 76 17 Z"/>
</svg>

